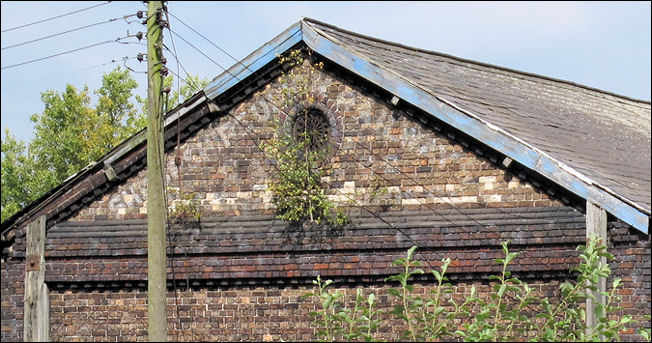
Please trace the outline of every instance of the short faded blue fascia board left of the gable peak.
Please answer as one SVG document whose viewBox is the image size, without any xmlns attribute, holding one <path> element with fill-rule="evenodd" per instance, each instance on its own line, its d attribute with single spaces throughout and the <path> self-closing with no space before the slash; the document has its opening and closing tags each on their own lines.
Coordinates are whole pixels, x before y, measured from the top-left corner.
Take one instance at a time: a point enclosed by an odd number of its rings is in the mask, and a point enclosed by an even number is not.
<svg viewBox="0 0 652 343">
<path fill-rule="evenodd" d="M 234 64 L 204 88 L 204 93 L 210 100 L 240 83 L 242 80 L 273 61 L 277 55 L 301 42 L 301 22 L 290 26 L 280 35 L 258 48 L 242 61 Z"/>
</svg>

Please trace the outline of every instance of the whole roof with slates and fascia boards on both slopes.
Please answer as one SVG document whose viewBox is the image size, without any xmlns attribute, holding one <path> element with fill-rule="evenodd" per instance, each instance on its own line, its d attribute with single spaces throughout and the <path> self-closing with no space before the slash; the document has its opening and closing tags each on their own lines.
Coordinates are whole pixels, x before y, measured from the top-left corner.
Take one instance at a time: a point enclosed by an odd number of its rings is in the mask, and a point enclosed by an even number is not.
<svg viewBox="0 0 652 343">
<path fill-rule="evenodd" d="M 192 134 L 206 115 L 220 110 L 220 99 L 239 102 L 254 90 L 243 80 L 300 44 L 648 232 L 650 102 L 407 47 L 308 18 L 170 111 L 166 137 L 174 136 L 176 126 Z M 56 223 L 88 204 L 117 182 L 107 170 L 115 169 L 117 180 L 123 180 L 142 168 L 145 131 L 5 220 L 2 241 L 39 215 Z"/>
</svg>

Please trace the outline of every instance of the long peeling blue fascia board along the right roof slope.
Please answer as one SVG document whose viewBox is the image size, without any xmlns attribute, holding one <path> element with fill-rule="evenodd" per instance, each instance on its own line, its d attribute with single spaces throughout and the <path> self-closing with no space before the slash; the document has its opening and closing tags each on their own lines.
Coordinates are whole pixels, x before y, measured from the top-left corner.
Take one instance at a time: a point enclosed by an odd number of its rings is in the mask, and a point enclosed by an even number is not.
<svg viewBox="0 0 652 343">
<path fill-rule="evenodd" d="M 616 218 L 636 229 L 644 233 L 648 232 L 649 213 L 639 206 L 635 206 L 636 204 L 606 191 L 604 187 L 597 185 L 545 152 L 480 119 L 469 111 L 438 99 L 401 76 L 380 68 L 364 57 L 344 48 L 342 44 L 326 38 L 326 34 L 316 31 L 318 29 L 303 21 L 301 23 L 303 41 L 313 51 L 505 154 L 564 189 L 598 204 Z"/>
</svg>

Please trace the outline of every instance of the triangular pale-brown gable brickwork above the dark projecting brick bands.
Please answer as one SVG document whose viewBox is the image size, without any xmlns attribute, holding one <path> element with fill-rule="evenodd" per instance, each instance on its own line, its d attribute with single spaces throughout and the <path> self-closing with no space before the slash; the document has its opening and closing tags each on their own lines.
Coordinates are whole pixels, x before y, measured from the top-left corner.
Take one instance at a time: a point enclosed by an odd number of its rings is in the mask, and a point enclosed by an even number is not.
<svg viewBox="0 0 652 343">
<path fill-rule="evenodd" d="M 308 70 L 297 70 L 297 78 L 307 78 Z M 310 80 L 310 95 L 325 110 L 337 137 L 334 156 L 325 165 L 332 173 L 324 179 L 333 201 L 400 210 L 560 205 L 332 75 L 313 70 Z M 259 147 L 274 134 L 273 123 L 293 113 L 274 105 L 282 103 L 282 88 L 266 86 L 231 110 L 233 117 L 224 116 L 188 139 L 178 148 L 179 169 L 177 152 L 168 153 L 166 181 L 175 191 L 171 206 L 178 202 L 175 195 L 194 192 L 202 216 L 273 212 L 268 184 L 274 166 Z M 145 218 L 146 176 L 142 170 L 71 220 Z M 387 193 L 373 197 L 377 188 Z"/>
</svg>

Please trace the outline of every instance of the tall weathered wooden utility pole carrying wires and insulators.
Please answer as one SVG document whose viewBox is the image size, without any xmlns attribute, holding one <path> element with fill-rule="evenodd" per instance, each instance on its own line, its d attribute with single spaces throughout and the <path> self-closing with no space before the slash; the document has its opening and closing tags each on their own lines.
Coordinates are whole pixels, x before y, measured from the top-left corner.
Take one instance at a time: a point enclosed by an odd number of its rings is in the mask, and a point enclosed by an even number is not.
<svg viewBox="0 0 652 343">
<path fill-rule="evenodd" d="M 163 189 L 163 4 L 147 7 L 147 333 L 150 342 L 167 341 L 165 194 Z"/>
</svg>

